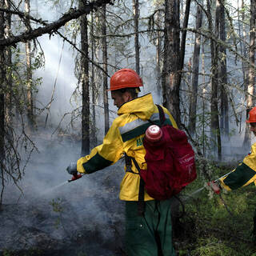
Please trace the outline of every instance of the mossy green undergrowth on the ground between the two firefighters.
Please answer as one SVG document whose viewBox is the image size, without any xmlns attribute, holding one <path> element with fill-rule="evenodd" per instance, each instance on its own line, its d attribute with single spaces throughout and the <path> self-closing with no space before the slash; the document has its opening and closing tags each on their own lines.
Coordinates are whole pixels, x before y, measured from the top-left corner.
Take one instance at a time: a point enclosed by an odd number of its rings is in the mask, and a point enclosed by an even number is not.
<svg viewBox="0 0 256 256">
<path fill-rule="evenodd" d="M 214 166 L 214 164 L 211 164 Z M 215 180 L 230 172 L 234 166 L 212 168 L 210 179 Z M 193 197 L 195 190 L 205 186 L 199 174 L 182 194 L 186 195 L 186 214 L 180 219 L 185 231 L 175 235 L 174 245 L 179 256 L 190 251 L 192 256 L 256 256 L 256 246 L 251 235 L 256 208 L 253 184 L 221 196 L 213 194 L 208 186 Z"/>
</svg>

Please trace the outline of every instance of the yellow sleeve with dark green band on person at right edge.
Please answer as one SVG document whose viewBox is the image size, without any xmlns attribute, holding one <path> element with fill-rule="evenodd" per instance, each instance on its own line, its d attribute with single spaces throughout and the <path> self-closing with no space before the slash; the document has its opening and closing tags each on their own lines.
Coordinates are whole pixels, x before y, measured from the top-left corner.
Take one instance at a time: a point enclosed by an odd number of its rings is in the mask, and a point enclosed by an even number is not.
<svg viewBox="0 0 256 256">
<path fill-rule="evenodd" d="M 251 146 L 251 153 L 242 163 L 231 174 L 221 178 L 220 182 L 226 190 L 236 190 L 252 182 L 256 185 L 256 143 Z"/>
</svg>

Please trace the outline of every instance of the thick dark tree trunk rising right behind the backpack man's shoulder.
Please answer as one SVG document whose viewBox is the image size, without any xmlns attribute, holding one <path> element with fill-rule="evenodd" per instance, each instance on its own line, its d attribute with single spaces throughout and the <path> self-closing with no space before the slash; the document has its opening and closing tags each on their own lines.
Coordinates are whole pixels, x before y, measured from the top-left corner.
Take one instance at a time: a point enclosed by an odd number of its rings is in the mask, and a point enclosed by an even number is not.
<svg viewBox="0 0 256 256">
<path fill-rule="evenodd" d="M 180 36 L 179 0 L 165 1 L 164 65 L 162 70 L 163 105 L 181 126 L 179 109 Z"/>
</svg>

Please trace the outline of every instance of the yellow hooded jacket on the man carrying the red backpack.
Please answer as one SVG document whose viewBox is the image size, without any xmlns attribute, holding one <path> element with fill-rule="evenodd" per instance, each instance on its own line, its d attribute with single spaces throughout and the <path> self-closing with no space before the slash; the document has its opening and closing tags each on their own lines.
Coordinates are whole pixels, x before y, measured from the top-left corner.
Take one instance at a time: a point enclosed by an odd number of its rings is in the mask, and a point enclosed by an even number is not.
<svg viewBox="0 0 256 256">
<path fill-rule="evenodd" d="M 177 128 L 174 118 L 166 108 L 166 123 Z M 154 105 L 151 94 L 135 98 L 123 104 L 118 110 L 118 118 L 114 119 L 110 130 L 103 139 L 102 145 L 96 146 L 89 155 L 78 159 L 78 172 L 91 174 L 94 171 L 102 170 L 118 162 L 126 153 L 135 158 L 142 169 L 146 169 L 144 156 L 146 150 L 142 143 L 146 128 L 150 126 L 151 119 L 159 122 L 158 107 Z M 126 172 L 120 186 L 119 198 L 126 201 L 138 201 L 139 175 L 138 170 L 132 163 L 134 173 Z M 126 168 L 125 168 L 126 169 Z M 152 200 L 145 191 L 145 201 Z"/>
</svg>

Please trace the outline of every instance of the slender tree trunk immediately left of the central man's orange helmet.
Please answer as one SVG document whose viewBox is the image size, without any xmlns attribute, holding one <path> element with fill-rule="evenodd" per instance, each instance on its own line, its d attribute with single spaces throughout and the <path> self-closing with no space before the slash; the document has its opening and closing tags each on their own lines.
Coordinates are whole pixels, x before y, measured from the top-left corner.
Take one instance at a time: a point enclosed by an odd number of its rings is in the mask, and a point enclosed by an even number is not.
<svg viewBox="0 0 256 256">
<path fill-rule="evenodd" d="M 104 101 L 104 116 L 105 116 L 105 134 L 110 129 L 110 114 L 109 102 L 107 97 L 107 43 L 106 43 L 106 4 L 102 6 L 102 62 L 103 70 L 103 101 Z"/>
</svg>

